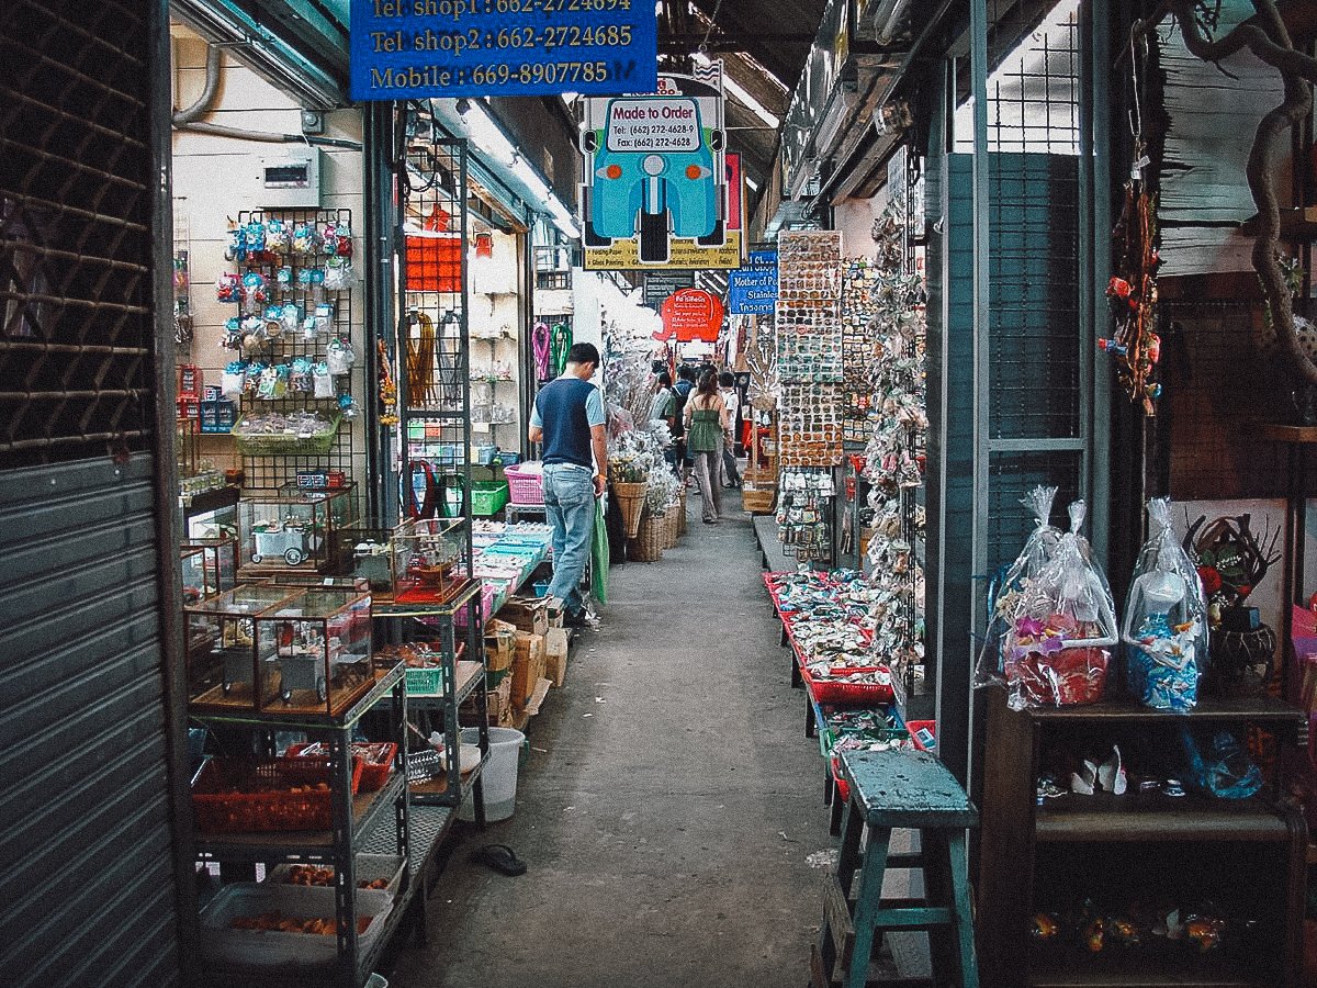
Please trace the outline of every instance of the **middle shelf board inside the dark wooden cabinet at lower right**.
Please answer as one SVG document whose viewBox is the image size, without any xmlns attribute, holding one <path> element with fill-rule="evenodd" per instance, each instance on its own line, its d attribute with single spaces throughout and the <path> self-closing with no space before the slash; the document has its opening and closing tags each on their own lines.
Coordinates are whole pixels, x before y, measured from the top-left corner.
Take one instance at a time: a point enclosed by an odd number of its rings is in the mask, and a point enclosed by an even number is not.
<svg viewBox="0 0 1317 988">
<path fill-rule="evenodd" d="M 1034 815 L 1039 843 L 1077 840 L 1288 840 L 1289 827 L 1260 800 L 1162 793 L 1065 794 Z"/>
</svg>

